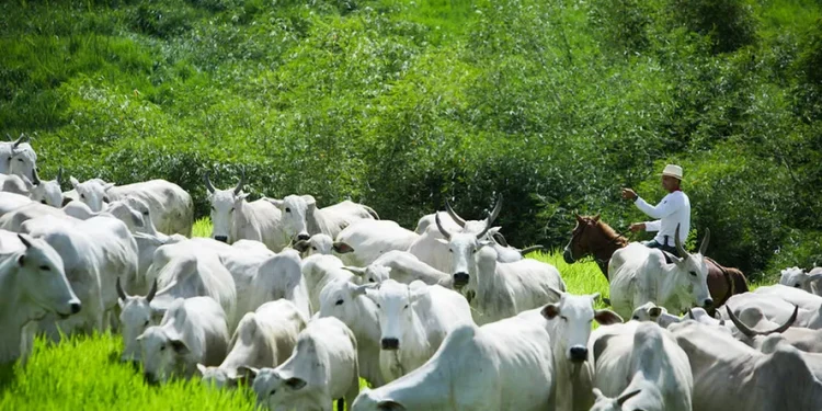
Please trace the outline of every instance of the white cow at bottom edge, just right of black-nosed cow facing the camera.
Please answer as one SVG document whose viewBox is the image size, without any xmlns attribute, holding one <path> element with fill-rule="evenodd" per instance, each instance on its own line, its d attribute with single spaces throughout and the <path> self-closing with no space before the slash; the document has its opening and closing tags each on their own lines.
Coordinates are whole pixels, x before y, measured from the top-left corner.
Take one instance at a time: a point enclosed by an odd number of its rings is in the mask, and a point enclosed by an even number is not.
<svg viewBox="0 0 822 411">
<path fill-rule="evenodd" d="M 690 364 L 667 330 L 637 321 L 603 327 L 589 346 L 596 368 L 591 411 L 692 410 Z"/>
</svg>

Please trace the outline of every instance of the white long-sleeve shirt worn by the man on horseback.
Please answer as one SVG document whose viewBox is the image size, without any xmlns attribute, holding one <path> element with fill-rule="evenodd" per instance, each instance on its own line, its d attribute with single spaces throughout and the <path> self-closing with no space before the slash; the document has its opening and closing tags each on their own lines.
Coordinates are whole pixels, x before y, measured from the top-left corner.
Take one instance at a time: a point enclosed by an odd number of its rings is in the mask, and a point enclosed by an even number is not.
<svg viewBox="0 0 822 411">
<path fill-rule="evenodd" d="M 690 201 L 685 193 L 678 190 L 669 193 L 655 206 L 637 196 L 633 204 L 651 218 L 657 218 L 653 221 L 644 221 L 646 231 L 659 231 L 653 238 L 657 242 L 665 244 L 665 236 L 667 236 L 667 246 L 675 247 L 674 232 L 676 232 L 676 225 L 678 224 L 680 241 L 683 244 L 685 243 L 688 231 L 690 231 Z"/>
</svg>

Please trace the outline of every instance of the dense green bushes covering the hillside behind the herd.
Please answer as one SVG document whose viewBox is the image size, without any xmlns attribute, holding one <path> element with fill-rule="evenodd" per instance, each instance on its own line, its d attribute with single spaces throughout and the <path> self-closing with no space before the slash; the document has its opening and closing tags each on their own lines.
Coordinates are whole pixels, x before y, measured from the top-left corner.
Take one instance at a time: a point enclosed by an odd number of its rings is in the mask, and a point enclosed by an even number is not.
<svg viewBox="0 0 822 411">
<path fill-rule="evenodd" d="M 202 174 L 413 227 L 496 193 L 517 246 L 643 217 L 685 168 L 695 237 L 749 274 L 822 262 L 817 0 L 4 1 L 0 134 L 119 184 Z M 68 183 L 64 183 L 69 189 Z M 647 237 L 646 237 L 647 238 Z"/>
</svg>

